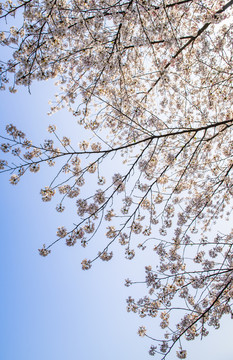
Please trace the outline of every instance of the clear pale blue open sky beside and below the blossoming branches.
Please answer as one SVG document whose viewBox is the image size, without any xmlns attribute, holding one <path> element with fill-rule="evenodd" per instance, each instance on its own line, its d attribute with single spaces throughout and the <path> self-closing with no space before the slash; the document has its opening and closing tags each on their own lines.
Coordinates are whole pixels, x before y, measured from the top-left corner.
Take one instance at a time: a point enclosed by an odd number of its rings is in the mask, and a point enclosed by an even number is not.
<svg viewBox="0 0 233 360">
<path fill-rule="evenodd" d="M 73 130 L 75 119 L 67 111 L 47 117 L 53 87 L 35 83 L 15 95 L 0 94 L 0 132 L 15 124 L 28 137 L 42 142 L 49 124 L 60 134 Z M 82 132 L 75 127 L 77 143 Z M 67 131 L 66 131 L 67 130 Z M 0 158 L 2 156 L 0 155 Z M 55 211 L 56 202 L 43 203 L 40 189 L 49 184 L 50 168 L 28 174 L 17 186 L 9 174 L 1 174 L 1 334 L 0 358 L 4 360 L 147 360 L 151 341 L 137 330 L 146 324 L 151 335 L 159 333 L 152 320 L 126 312 L 125 299 L 131 294 L 146 295 L 138 288 L 126 288 L 125 278 L 144 279 L 144 266 L 153 259 L 124 259 L 118 246 L 109 263 L 96 262 L 82 271 L 80 262 L 96 249 L 68 248 L 60 242 L 47 258 L 38 255 L 43 243 L 55 239 L 59 225 L 69 225 L 69 210 Z M 91 186 L 91 184 L 90 184 Z M 98 236 L 98 235 L 97 235 Z M 101 236 L 96 241 L 101 242 Z M 98 245 L 98 243 L 97 243 Z M 91 255 L 90 255 L 91 254 Z M 233 326 L 224 319 L 219 330 L 210 330 L 204 340 L 185 343 L 188 359 L 232 360 Z M 186 346 L 187 345 L 187 346 Z M 155 357 L 158 359 L 158 357 Z M 175 359 L 173 352 L 168 359 Z"/>
</svg>

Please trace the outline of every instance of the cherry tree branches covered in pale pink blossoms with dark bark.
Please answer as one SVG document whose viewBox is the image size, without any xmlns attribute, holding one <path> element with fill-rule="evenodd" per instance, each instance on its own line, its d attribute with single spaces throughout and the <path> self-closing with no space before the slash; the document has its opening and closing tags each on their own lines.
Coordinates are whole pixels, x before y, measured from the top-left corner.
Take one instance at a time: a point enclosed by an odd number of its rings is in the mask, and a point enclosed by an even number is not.
<svg viewBox="0 0 233 360">
<path fill-rule="evenodd" d="M 232 9 L 233 0 L 1 4 L 0 42 L 10 56 L 0 62 L 1 89 L 30 91 L 35 80 L 55 79 L 51 114 L 67 107 L 93 137 L 77 147 L 50 125 L 51 138 L 37 145 L 10 124 L 0 171 L 15 185 L 56 167 L 42 200 L 59 197 L 58 212 L 75 201 L 75 226 L 60 226 L 40 255 L 58 241 L 86 247 L 102 228 L 100 251 L 82 261 L 84 270 L 109 261 L 113 242 L 129 260 L 154 251 L 147 295 L 129 297 L 127 310 L 160 318 L 162 339 L 144 326 L 138 333 L 161 359 L 174 347 L 186 358 L 182 339 L 202 338 L 233 315 L 233 230 L 221 227 L 233 195 Z M 119 171 L 111 173 L 113 158 Z"/>
</svg>

